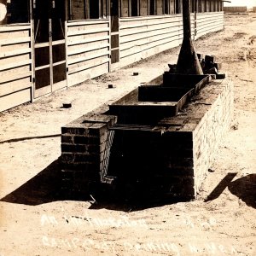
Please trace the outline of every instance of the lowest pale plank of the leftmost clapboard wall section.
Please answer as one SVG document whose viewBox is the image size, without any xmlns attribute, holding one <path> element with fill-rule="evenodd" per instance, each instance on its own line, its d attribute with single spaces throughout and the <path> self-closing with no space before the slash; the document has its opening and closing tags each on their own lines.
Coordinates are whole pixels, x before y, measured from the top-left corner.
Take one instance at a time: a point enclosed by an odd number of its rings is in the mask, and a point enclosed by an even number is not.
<svg viewBox="0 0 256 256">
<path fill-rule="evenodd" d="M 14 108 L 22 103 L 31 102 L 32 93 L 31 88 L 20 90 L 7 96 L 0 97 L 0 111 Z"/>
</svg>

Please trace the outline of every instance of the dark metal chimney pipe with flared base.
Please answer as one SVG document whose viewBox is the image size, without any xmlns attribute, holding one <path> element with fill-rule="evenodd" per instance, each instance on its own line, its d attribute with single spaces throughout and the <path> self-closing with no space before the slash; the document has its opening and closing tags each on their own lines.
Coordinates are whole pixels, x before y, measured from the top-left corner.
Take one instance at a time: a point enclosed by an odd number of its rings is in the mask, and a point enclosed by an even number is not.
<svg viewBox="0 0 256 256">
<path fill-rule="evenodd" d="M 203 74 L 191 39 L 190 0 L 183 0 L 183 44 L 177 59 L 177 73 Z"/>
</svg>

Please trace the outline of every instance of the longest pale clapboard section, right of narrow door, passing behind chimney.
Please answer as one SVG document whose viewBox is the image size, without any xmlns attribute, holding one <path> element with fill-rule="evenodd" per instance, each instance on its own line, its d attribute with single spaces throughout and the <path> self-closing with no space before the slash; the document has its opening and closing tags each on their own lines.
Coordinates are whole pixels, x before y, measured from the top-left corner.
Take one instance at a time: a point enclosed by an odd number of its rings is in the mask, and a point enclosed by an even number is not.
<svg viewBox="0 0 256 256">
<path fill-rule="evenodd" d="M 194 37 L 195 15 L 191 15 Z M 120 19 L 120 66 L 131 64 L 182 43 L 182 15 Z"/>
</svg>

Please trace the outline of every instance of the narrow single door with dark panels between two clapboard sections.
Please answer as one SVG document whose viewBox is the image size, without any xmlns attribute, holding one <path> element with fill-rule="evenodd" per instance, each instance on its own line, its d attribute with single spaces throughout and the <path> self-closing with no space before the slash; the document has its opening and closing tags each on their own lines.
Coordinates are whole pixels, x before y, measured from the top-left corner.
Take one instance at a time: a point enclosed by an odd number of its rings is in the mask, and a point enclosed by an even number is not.
<svg viewBox="0 0 256 256">
<path fill-rule="evenodd" d="M 110 1 L 111 69 L 119 67 L 119 0 Z"/>
</svg>

